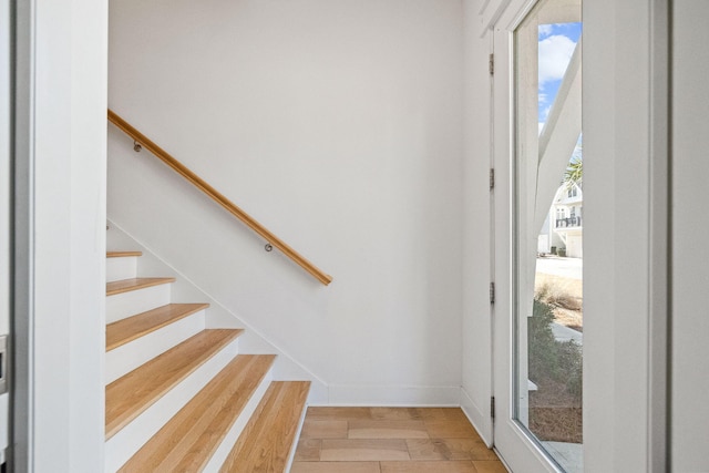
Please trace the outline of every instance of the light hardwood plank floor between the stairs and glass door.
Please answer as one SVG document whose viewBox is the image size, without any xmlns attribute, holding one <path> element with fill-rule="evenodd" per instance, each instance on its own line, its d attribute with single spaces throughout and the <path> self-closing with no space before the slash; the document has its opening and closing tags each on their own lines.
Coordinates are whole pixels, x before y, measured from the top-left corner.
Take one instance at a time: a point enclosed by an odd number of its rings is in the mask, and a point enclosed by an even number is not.
<svg viewBox="0 0 709 473">
<path fill-rule="evenodd" d="M 458 408 L 309 408 L 291 473 L 505 473 Z"/>
</svg>

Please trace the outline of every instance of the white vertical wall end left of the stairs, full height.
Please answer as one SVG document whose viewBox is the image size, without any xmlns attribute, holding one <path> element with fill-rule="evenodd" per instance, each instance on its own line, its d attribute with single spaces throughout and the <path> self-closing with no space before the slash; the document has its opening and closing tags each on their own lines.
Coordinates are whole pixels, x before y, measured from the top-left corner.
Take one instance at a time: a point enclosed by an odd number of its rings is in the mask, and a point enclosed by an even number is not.
<svg viewBox="0 0 709 473">
<path fill-rule="evenodd" d="M 14 471 L 103 467 L 106 13 L 18 3 Z"/>
</svg>

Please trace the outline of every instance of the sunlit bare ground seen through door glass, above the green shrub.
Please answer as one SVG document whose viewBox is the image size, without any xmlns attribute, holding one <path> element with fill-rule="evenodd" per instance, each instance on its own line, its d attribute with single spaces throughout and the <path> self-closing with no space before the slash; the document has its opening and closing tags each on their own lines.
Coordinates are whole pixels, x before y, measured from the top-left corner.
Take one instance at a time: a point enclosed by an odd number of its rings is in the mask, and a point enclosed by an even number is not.
<svg viewBox="0 0 709 473">
<path fill-rule="evenodd" d="M 543 302 L 554 307 L 557 323 L 584 331 L 584 284 L 580 279 L 537 273 L 534 291 Z"/>
</svg>

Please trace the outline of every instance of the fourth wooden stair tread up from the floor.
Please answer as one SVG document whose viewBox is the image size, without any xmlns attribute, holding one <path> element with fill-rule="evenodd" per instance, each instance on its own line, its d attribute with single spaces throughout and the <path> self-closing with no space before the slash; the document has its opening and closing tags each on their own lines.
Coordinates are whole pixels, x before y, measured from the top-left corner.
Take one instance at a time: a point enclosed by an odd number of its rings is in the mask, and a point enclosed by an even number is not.
<svg viewBox="0 0 709 473">
<path fill-rule="evenodd" d="M 137 316 L 109 323 L 106 326 L 106 351 L 119 348 L 207 307 L 209 307 L 208 304 L 168 304 Z"/>
</svg>

